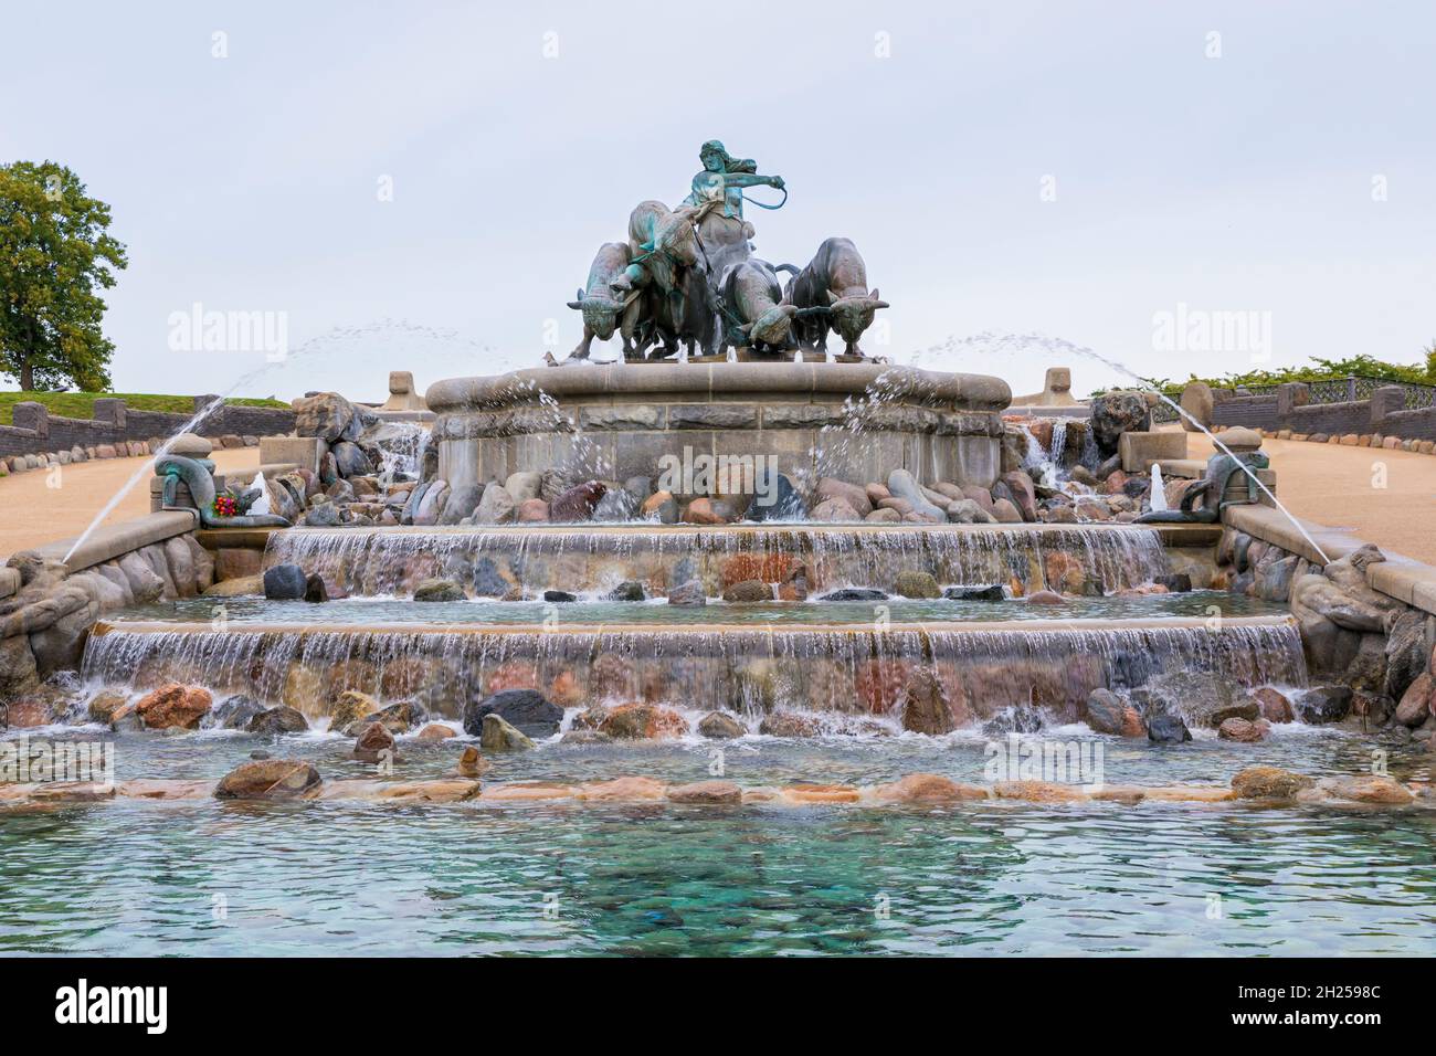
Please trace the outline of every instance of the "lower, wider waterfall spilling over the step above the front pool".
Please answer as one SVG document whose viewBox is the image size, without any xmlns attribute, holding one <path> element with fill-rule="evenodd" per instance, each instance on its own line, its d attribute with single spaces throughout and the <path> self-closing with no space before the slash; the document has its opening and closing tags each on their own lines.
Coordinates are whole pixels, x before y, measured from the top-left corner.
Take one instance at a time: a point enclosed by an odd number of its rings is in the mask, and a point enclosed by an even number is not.
<svg viewBox="0 0 1436 1056">
<path fill-rule="evenodd" d="M 345 690 L 419 700 L 457 717 L 467 700 L 531 687 L 569 707 L 649 700 L 684 708 L 889 714 L 918 665 L 974 715 L 1037 704 L 1064 721 L 1091 690 L 1211 672 L 1236 687 L 1301 684 L 1287 616 L 890 626 L 533 626 L 99 624 L 83 674 L 145 688 L 198 682 L 326 714 Z"/>
</svg>

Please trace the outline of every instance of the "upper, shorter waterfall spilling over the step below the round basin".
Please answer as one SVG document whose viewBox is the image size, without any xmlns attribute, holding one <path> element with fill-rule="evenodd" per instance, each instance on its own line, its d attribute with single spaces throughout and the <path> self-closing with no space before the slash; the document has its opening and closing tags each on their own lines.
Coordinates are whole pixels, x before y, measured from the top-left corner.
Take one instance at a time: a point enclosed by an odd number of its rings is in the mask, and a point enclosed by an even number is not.
<svg viewBox="0 0 1436 1056">
<path fill-rule="evenodd" d="M 1074 592 L 1076 576 L 1076 592 L 1110 593 L 1170 570 L 1159 536 L 1127 524 L 296 529 L 273 533 L 264 560 L 293 562 L 350 595 L 406 593 L 431 576 L 495 593 L 495 575 L 530 592 L 625 579 L 662 592 L 686 579 L 781 580 L 798 563 L 810 590 L 890 589 L 899 572 L 923 570 L 939 583 L 1022 590 Z"/>
</svg>

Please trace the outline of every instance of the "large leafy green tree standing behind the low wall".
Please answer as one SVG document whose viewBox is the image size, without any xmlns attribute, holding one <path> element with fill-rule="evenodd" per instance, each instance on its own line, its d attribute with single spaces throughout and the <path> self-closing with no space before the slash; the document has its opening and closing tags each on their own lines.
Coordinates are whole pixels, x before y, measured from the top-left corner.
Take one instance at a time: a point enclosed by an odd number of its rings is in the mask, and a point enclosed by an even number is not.
<svg viewBox="0 0 1436 1056">
<path fill-rule="evenodd" d="M 109 388 L 99 292 L 126 260 L 108 228 L 109 205 L 65 165 L 0 165 L 0 375 L 22 389 Z"/>
</svg>

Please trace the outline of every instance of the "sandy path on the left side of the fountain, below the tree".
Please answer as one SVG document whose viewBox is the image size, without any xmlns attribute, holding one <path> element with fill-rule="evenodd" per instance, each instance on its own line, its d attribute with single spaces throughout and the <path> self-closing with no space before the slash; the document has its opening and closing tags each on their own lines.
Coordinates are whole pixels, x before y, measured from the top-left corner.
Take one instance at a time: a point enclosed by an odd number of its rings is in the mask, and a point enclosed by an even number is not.
<svg viewBox="0 0 1436 1056">
<path fill-rule="evenodd" d="M 258 468 L 260 464 L 257 447 L 215 451 L 213 457 L 221 471 Z M 59 487 L 49 486 L 52 471 L 47 470 L 16 473 L 0 480 L 0 563 L 16 550 L 78 536 L 146 461 L 106 458 L 62 466 Z M 145 513 L 149 513 L 149 481 L 141 480 L 105 523 Z"/>
</svg>

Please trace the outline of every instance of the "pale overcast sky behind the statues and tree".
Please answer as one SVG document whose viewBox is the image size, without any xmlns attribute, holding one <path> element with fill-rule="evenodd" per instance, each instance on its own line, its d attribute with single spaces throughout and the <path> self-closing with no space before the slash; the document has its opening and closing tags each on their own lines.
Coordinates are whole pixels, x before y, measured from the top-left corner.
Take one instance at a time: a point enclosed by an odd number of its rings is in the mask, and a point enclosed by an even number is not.
<svg viewBox="0 0 1436 1056">
<path fill-rule="evenodd" d="M 424 388 L 566 353 L 595 249 L 639 201 L 676 204 L 709 138 L 788 184 L 750 208 L 760 256 L 856 241 L 892 303 L 869 351 L 898 362 L 1037 388 L 1041 352 L 931 351 L 987 330 L 1166 378 L 1414 362 L 1436 338 L 1433 10 L 10 3 L 0 159 L 60 161 L 112 204 L 119 391 L 266 366 L 177 351 L 197 302 L 286 313 L 290 358 L 244 395 L 382 398 L 389 369 Z M 1235 346 L 1162 336 L 1182 305 L 1256 315 Z M 1081 394 L 1114 379 L 1070 365 Z"/>
</svg>

